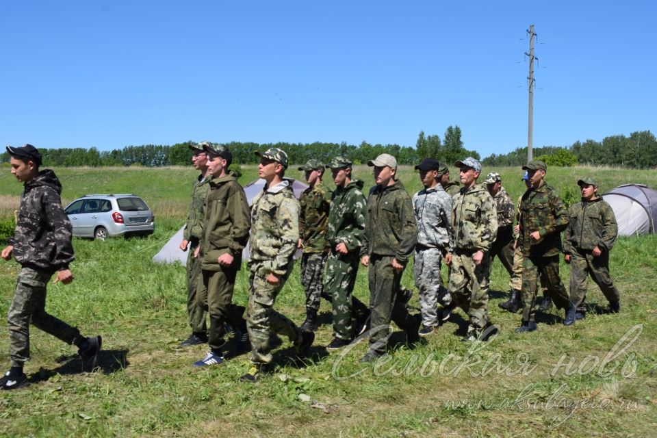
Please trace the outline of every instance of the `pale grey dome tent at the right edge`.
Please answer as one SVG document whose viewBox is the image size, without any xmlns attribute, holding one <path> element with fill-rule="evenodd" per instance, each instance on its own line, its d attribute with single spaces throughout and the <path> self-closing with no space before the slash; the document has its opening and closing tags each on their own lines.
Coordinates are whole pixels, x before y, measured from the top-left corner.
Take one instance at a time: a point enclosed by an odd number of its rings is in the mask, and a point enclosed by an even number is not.
<svg viewBox="0 0 657 438">
<path fill-rule="evenodd" d="M 643 184 L 625 184 L 603 195 L 618 222 L 619 235 L 655 233 L 657 190 Z"/>
</svg>

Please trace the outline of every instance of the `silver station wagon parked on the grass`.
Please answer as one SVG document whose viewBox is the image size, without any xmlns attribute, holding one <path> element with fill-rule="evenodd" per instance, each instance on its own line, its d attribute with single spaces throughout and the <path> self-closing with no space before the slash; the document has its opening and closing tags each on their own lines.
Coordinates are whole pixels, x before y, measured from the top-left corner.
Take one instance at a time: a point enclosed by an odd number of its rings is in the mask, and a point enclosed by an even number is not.
<svg viewBox="0 0 657 438">
<path fill-rule="evenodd" d="M 148 235 L 155 217 L 142 198 L 133 194 L 88 194 L 66 206 L 73 235 L 105 240 L 119 235 Z"/>
</svg>

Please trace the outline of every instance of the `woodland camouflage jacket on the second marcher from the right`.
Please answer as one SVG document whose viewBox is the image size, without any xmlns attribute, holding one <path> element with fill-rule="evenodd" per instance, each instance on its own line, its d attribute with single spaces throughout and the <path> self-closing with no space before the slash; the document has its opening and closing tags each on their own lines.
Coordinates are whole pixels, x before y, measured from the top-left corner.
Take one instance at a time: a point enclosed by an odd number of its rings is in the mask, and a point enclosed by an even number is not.
<svg viewBox="0 0 657 438">
<path fill-rule="evenodd" d="M 543 183 L 529 188 L 520 201 L 518 245 L 525 257 L 552 257 L 561 253 L 561 231 L 568 227 L 568 210 L 554 189 Z M 538 231 L 539 240 L 530 234 Z"/>
</svg>

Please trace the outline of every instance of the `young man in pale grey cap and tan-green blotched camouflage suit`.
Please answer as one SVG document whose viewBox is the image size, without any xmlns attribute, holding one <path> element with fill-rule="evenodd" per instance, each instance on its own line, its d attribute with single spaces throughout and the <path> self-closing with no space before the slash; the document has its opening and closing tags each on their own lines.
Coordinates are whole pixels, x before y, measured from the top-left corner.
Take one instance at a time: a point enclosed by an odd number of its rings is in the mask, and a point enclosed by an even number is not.
<svg viewBox="0 0 657 438">
<path fill-rule="evenodd" d="M 489 252 L 498 231 L 495 201 L 477 184 L 481 164 L 473 157 L 454 162 L 461 168 L 463 188 L 452 199 L 452 243 L 446 256 L 451 266 L 449 290 L 469 316 L 464 342 L 485 339 L 489 325 L 488 293 L 482 288 L 489 274 Z"/>
</svg>

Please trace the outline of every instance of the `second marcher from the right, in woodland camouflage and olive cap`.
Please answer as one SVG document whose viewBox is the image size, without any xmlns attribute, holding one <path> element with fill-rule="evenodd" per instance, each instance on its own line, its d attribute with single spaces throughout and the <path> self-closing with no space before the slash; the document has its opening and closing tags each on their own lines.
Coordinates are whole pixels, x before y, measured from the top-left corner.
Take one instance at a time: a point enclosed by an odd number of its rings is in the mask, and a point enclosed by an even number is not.
<svg viewBox="0 0 657 438">
<path fill-rule="evenodd" d="M 548 166 L 534 160 L 527 170 L 531 187 L 520 201 L 517 245 L 523 257 L 522 322 L 518 333 L 537 329 L 535 307 L 539 274 L 547 281 L 548 294 L 558 309 L 569 309 L 568 294 L 559 277 L 561 231 L 568 226 L 568 210 L 554 189 L 545 182 Z M 566 320 L 564 321 L 566 322 Z"/>
</svg>

